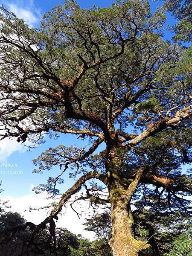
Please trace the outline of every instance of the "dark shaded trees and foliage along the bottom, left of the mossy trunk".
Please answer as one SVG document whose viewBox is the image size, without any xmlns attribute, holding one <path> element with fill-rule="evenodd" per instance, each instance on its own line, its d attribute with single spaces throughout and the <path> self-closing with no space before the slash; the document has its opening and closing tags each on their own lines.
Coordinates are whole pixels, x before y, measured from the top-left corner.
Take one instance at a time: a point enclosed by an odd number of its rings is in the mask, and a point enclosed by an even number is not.
<svg viewBox="0 0 192 256">
<path fill-rule="evenodd" d="M 49 240 L 48 230 L 43 230 L 33 241 L 26 254 L 26 245 L 30 241 L 32 231 L 22 230 L 22 225 L 26 224 L 21 215 L 17 212 L 5 212 L 0 207 L 0 255 L 19 256 L 20 253 L 29 256 L 112 256 L 108 240 L 100 239 L 93 242 L 83 239 L 70 231 L 57 228 L 56 248 L 53 250 L 47 241 Z M 18 228 L 18 230 L 16 229 Z"/>
</svg>

